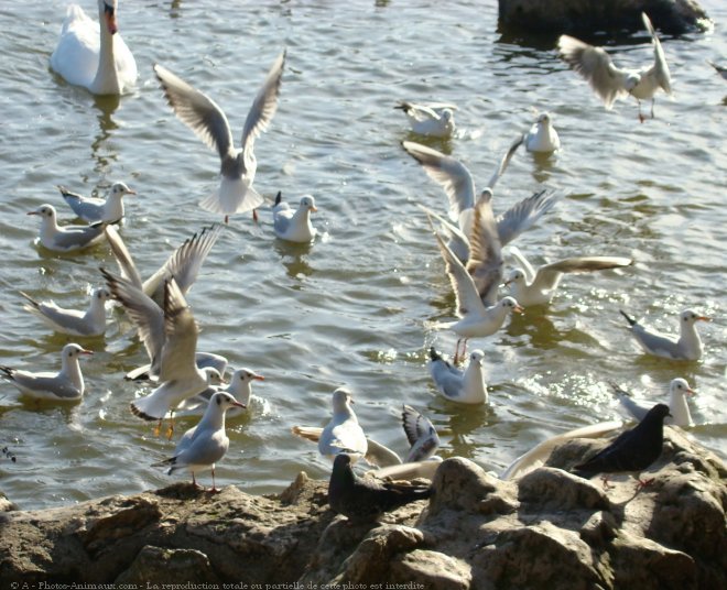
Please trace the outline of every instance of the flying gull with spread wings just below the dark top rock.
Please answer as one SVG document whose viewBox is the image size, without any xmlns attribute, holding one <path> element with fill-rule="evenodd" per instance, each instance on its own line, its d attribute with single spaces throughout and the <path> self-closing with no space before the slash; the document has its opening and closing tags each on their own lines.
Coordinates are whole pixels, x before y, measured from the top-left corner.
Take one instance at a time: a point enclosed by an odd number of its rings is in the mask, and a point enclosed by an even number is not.
<svg viewBox="0 0 727 590">
<path fill-rule="evenodd" d="M 557 47 L 568 65 L 583 76 L 596 94 L 604 100 L 610 110 L 617 98 L 631 95 L 639 103 L 639 120 L 644 121 L 641 114 L 641 100 L 651 99 L 651 118 L 654 117 L 654 95 L 661 88 L 668 95 L 672 94 L 671 76 L 664 51 L 645 13 L 641 13 L 643 24 L 651 34 L 654 46 L 654 63 L 641 69 L 620 69 L 614 65 L 611 58 L 601 47 L 594 47 L 583 41 L 568 35 L 561 35 Z"/>
</svg>

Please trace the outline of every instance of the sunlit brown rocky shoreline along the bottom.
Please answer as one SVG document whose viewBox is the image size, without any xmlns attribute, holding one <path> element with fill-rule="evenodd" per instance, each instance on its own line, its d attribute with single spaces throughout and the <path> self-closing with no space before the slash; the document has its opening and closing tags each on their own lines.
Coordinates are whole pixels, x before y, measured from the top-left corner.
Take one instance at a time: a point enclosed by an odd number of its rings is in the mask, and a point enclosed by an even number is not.
<svg viewBox="0 0 727 590">
<path fill-rule="evenodd" d="M 629 478 L 605 491 L 563 470 L 603 444 L 568 441 L 516 481 L 447 459 L 430 502 L 373 525 L 335 515 L 327 482 L 304 472 L 275 496 L 178 483 L 41 511 L 6 502 L 0 579 L 34 590 L 727 588 L 725 463 L 668 427 L 654 482 L 638 493 Z"/>
</svg>

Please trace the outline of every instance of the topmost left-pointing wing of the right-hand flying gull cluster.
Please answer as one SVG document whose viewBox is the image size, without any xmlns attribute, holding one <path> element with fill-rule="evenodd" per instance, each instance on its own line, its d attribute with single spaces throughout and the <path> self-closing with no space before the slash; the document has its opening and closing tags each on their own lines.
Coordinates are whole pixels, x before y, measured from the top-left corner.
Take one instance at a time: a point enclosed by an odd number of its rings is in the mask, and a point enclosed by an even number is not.
<svg viewBox="0 0 727 590">
<path fill-rule="evenodd" d="M 462 162 L 413 141 L 403 141 L 401 145 L 444 188 L 449 199 L 449 219 L 457 221 L 463 210 L 475 206 L 475 181 Z"/>
</svg>

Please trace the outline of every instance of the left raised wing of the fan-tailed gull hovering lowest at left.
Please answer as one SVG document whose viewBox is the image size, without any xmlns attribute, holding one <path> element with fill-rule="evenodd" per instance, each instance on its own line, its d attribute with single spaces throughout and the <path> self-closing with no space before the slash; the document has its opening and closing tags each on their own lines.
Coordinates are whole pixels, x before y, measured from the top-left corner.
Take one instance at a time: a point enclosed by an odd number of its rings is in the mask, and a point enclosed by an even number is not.
<svg viewBox="0 0 727 590">
<path fill-rule="evenodd" d="M 127 315 L 137 326 L 137 334 L 144 343 L 152 368 L 151 374 L 158 374 L 162 360 L 162 350 L 166 341 L 164 330 L 164 314 L 156 303 L 131 282 L 115 276 L 105 269 L 101 274 L 111 295 L 124 308 Z"/>
</svg>

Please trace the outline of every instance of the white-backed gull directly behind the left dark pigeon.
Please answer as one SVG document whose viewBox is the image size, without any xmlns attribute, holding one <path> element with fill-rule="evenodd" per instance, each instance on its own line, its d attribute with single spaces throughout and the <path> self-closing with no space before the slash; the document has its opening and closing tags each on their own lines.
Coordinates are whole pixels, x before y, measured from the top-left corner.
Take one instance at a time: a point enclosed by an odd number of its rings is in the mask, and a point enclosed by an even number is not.
<svg viewBox="0 0 727 590">
<path fill-rule="evenodd" d="M 333 459 L 339 452 L 347 452 L 358 460 L 366 455 L 368 442 L 350 406 L 352 403 L 351 392 L 346 387 L 334 391 L 333 417 L 318 439 L 318 451 L 324 457 Z"/>
</svg>

